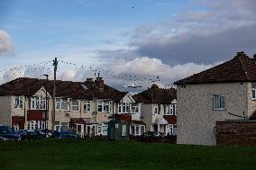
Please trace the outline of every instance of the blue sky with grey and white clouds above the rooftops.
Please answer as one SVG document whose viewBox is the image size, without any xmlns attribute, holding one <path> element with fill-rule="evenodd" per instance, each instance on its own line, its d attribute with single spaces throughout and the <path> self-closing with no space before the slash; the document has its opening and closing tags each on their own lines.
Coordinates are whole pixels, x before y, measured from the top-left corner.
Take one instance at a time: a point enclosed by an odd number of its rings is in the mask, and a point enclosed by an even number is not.
<svg viewBox="0 0 256 170">
<path fill-rule="evenodd" d="M 52 78 L 58 58 L 58 79 L 97 70 L 120 90 L 169 87 L 237 51 L 252 57 L 255 9 L 254 0 L 0 0 L 0 83 Z"/>
</svg>

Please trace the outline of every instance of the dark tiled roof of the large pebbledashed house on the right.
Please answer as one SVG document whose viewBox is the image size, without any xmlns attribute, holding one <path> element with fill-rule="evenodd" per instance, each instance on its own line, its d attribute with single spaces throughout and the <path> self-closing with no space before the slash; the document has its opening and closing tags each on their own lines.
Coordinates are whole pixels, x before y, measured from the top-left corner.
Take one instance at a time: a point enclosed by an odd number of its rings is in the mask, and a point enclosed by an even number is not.
<svg viewBox="0 0 256 170">
<path fill-rule="evenodd" d="M 178 80 L 175 85 L 197 85 L 214 83 L 256 82 L 256 61 L 244 52 L 229 61 L 193 76 Z"/>
</svg>

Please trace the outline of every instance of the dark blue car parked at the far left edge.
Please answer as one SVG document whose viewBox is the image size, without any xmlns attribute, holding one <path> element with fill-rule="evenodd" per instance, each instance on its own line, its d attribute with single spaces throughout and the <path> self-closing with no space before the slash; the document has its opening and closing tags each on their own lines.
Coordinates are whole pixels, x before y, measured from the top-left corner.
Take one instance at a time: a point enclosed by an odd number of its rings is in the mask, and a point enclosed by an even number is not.
<svg viewBox="0 0 256 170">
<path fill-rule="evenodd" d="M 20 140 L 18 134 L 7 125 L 0 125 L 0 140 Z"/>
</svg>

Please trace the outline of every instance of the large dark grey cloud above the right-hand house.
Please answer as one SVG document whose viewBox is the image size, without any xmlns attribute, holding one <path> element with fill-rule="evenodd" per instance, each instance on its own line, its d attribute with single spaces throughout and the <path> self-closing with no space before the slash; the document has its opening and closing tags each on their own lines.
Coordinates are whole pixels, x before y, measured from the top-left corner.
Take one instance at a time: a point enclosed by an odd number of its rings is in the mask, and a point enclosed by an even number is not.
<svg viewBox="0 0 256 170">
<path fill-rule="evenodd" d="M 252 55 L 256 46 L 255 8 L 253 0 L 210 1 L 205 10 L 181 13 L 175 21 L 137 27 L 128 46 L 140 56 L 160 58 L 170 66 L 213 64 L 233 58 L 241 50 Z"/>
</svg>

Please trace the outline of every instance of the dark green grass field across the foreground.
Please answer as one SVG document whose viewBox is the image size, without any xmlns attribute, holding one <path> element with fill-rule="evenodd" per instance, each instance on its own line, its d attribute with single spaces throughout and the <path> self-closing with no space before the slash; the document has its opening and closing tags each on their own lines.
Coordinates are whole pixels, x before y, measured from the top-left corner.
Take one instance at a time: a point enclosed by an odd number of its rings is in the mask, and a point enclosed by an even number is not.
<svg viewBox="0 0 256 170">
<path fill-rule="evenodd" d="M 256 147 L 88 139 L 2 141 L 0 169 L 256 169 Z"/>
</svg>

